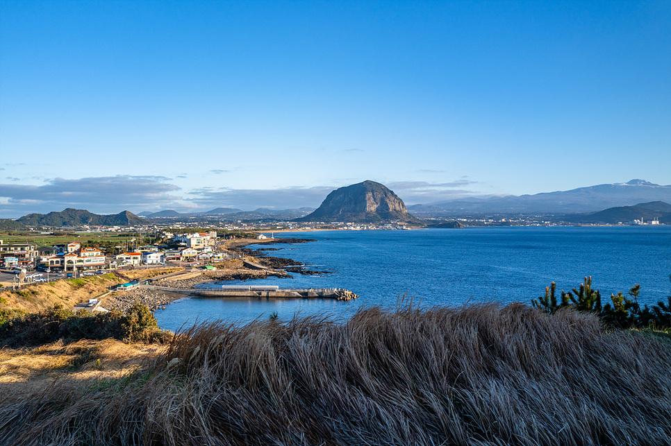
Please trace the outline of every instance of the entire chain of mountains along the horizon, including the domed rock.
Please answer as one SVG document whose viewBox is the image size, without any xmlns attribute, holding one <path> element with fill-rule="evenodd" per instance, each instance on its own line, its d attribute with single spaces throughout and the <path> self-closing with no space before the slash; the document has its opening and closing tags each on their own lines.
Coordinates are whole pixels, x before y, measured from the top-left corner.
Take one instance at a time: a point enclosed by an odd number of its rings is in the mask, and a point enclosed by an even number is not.
<svg viewBox="0 0 671 446">
<path fill-rule="evenodd" d="M 207 212 L 181 213 L 172 209 L 142 212 L 143 218 L 128 212 L 98 215 L 84 209 L 68 208 L 49 214 L 28 214 L 17 220 L 0 219 L 0 229 L 22 230 L 26 226 L 136 226 L 160 221 L 414 221 L 417 218 L 461 217 L 483 214 L 527 214 L 548 216 L 565 223 L 606 223 L 645 221 L 658 218 L 671 224 L 671 185 L 661 186 L 645 180 L 580 187 L 570 191 L 535 195 L 467 198 L 406 209 L 401 198 L 384 185 L 365 181 L 341 187 L 326 197 L 319 209 L 269 209 L 241 211 L 217 207 Z M 408 213 L 408 211 L 410 213 Z M 415 218 L 417 217 L 417 218 Z"/>
</svg>

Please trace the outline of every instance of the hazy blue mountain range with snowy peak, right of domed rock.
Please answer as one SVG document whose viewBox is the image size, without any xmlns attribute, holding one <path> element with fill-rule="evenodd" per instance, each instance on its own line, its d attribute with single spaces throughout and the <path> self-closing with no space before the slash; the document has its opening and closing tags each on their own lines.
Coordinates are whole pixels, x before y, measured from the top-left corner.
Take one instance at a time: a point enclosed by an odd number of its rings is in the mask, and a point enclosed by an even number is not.
<svg viewBox="0 0 671 446">
<path fill-rule="evenodd" d="M 522 196 L 465 198 L 408 206 L 418 216 L 463 216 L 468 214 L 568 214 L 596 212 L 609 207 L 663 201 L 671 203 L 671 185 L 645 180 L 579 187 L 570 191 Z"/>
</svg>

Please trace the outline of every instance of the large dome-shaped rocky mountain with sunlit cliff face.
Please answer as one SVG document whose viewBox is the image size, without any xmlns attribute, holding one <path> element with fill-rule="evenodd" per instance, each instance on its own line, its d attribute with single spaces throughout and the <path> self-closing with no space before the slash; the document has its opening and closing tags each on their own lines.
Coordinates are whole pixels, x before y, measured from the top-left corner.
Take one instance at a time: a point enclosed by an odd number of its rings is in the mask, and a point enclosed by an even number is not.
<svg viewBox="0 0 671 446">
<path fill-rule="evenodd" d="M 420 223 L 417 218 L 408 214 L 401 198 L 386 186 L 374 181 L 364 181 L 336 189 L 326 197 L 315 212 L 300 218 L 299 221 Z"/>
</svg>

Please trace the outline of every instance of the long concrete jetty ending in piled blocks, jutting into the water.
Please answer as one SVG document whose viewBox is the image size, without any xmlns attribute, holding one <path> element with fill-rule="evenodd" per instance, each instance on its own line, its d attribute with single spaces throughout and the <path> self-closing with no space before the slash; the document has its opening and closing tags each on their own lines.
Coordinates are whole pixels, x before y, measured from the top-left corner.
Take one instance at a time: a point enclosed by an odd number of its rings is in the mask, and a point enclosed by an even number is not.
<svg viewBox="0 0 671 446">
<path fill-rule="evenodd" d="M 173 288 L 170 286 L 142 285 L 142 288 L 173 293 L 186 293 L 209 298 L 331 298 L 351 300 L 358 295 L 342 288 L 280 288 L 276 285 L 222 285 L 216 288 Z"/>
</svg>

